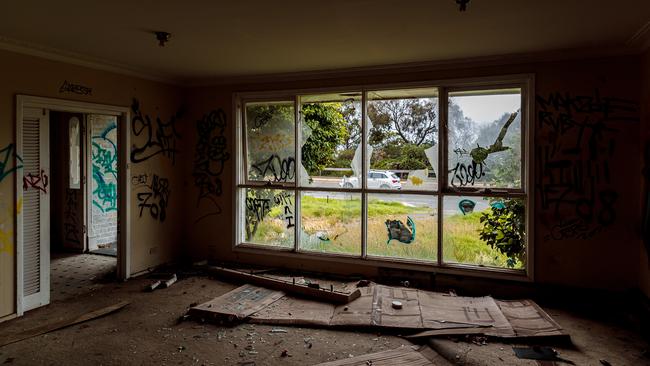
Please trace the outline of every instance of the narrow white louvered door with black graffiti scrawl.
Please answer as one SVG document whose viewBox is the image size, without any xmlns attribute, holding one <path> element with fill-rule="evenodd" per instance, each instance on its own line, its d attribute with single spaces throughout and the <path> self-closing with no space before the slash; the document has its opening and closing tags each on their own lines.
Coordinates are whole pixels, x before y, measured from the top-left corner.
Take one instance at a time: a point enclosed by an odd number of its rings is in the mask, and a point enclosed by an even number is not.
<svg viewBox="0 0 650 366">
<path fill-rule="evenodd" d="M 22 311 L 27 311 L 50 302 L 49 112 L 24 108 L 18 136 L 23 160 L 22 174 L 18 174 L 22 186 L 17 187 L 22 192 L 18 243 L 22 247 Z"/>
</svg>

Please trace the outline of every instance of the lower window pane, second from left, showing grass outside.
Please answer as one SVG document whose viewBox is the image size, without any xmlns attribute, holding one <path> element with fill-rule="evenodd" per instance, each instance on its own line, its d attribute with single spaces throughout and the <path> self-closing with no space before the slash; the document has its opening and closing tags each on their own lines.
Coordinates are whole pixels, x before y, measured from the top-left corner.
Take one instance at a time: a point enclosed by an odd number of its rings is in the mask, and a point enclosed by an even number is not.
<svg viewBox="0 0 650 366">
<path fill-rule="evenodd" d="M 361 194 L 303 192 L 300 248 L 361 255 Z"/>
</svg>

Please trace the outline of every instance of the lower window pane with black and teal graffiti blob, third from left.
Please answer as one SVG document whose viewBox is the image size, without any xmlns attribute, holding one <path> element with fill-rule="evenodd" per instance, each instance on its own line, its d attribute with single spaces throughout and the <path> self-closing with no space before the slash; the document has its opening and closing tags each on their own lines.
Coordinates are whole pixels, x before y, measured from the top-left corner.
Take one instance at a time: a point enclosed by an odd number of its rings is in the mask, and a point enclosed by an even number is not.
<svg viewBox="0 0 650 366">
<path fill-rule="evenodd" d="M 437 198 L 368 195 L 368 255 L 436 261 Z"/>
</svg>

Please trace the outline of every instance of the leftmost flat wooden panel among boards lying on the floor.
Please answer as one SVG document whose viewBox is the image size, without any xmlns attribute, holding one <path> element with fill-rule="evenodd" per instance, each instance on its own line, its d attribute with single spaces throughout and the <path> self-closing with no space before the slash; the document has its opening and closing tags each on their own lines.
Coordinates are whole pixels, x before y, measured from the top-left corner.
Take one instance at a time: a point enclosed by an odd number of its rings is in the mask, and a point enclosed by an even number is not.
<svg viewBox="0 0 650 366">
<path fill-rule="evenodd" d="M 284 297 L 284 292 L 253 285 L 238 287 L 206 303 L 190 308 L 189 314 L 206 319 L 245 319 Z"/>
</svg>

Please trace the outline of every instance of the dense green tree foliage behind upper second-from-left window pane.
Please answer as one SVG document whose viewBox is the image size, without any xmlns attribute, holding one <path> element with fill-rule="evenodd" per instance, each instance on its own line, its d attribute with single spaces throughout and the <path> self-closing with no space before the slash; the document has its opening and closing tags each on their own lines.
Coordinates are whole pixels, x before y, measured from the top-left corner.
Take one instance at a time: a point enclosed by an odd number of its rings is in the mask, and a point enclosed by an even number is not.
<svg viewBox="0 0 650 366">
<path fill-rule="evenodd" d="M 310 175 L 334 164 L 337 147 L 349 134 L 340 103 L 304 104 L 302 115 L 311 136 L 302 147 L 302 165 Z"/>
</svg>

